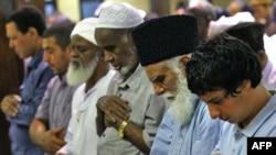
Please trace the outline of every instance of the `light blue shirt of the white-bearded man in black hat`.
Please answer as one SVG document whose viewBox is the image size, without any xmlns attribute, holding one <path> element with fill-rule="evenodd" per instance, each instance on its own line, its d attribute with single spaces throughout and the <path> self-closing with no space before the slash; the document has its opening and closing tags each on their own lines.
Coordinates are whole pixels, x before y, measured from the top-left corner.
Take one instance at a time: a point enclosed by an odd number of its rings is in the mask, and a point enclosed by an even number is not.
<svg viewBox="0 0 276 155">
<path fill-rule="evenodd" d="M 151 147 L 151 155 L 210 155 L 219 141 L 223 121 L 211 119 L 206 104 L 193 100 L 190 123 L 179 124 L 171 109 L 164 114 Z"/>
</svg>

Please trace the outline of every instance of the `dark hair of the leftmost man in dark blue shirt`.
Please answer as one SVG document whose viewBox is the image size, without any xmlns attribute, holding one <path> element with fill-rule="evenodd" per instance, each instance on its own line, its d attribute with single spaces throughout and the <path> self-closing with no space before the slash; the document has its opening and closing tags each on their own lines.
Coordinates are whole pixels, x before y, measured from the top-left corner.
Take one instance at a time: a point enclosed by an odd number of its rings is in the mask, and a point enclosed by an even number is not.
<svg viewBox="0 0 276 155">
<path fill-rule="evenodd" d="M 39 35 L 42 35 L 45 30 L 45 19 L 42 12 L 32 7 L 22 7 L 19 10 L 12 12 L 6 21 L 6 23 L 14 22 L 18 30 L 23 34 L 28 32 L 29 27 L 34 27 Z"/>
</svg>

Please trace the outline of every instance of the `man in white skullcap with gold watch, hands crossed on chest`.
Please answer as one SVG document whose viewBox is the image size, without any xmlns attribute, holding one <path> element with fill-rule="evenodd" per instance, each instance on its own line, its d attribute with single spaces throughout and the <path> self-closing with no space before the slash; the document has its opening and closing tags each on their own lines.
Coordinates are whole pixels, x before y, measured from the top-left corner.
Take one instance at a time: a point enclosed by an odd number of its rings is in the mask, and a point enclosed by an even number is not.
<svg viewBox="0 0 276 155">
<path fill-rule="evenodd" d="M 118 71 L 109 85 L 109 96 L 97 102 L 98 155 L 149 154 L 168 108 L 163 98 L 153 95 L 130 36 L 142 18 L 128 3 L 113 3 L 98 18 L 97 44 Z"/>
</svg>

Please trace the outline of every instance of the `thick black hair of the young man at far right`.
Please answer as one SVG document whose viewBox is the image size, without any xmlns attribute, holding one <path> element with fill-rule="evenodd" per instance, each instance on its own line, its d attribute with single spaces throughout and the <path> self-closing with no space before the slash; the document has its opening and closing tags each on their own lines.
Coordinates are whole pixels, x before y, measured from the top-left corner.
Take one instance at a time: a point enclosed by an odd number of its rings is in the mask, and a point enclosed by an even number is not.
<svg viewBox="0 0 276 155">
<path fill-rule="evenodd" d="M 253 49 L 226 33 L 200 44 L 185 71 L 189 89 L 199 96 L 224 89 L 226 96 L 235 96 L 244 80 L 251 80 L 255 88 L 262 78 L 262 67 Z"/>
</svg>

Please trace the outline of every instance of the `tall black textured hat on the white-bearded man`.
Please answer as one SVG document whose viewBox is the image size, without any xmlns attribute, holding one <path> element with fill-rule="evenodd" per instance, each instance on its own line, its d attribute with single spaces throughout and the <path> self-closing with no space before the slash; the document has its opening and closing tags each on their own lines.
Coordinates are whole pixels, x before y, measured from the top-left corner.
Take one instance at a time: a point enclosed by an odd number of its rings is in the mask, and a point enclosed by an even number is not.
<svg viewBox="0 0 276 155">
<path fill-rule="evenodd" d="M 131 32 L 141 66 L 190 54 L 199 43 L 195 18 L 168 15 L 146 21 Z"/>
</svg>

